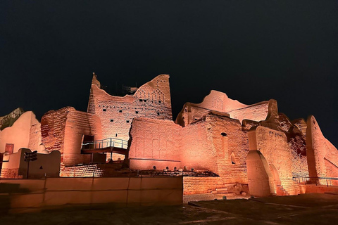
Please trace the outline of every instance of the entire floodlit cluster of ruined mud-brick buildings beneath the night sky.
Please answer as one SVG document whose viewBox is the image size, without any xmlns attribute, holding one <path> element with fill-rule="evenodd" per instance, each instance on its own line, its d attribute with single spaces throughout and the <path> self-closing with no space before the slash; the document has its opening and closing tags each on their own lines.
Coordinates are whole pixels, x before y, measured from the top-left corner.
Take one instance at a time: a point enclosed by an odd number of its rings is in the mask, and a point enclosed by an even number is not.
<svg viewBox="0 0 338 225">
<path fill-rule="evenodd" d="M 11 140 L 6 129 L 23 115 L 0 132 L 2 153 Z M 39 129 L 39 122 L 30 121 L 27 127 Z M 185 103 L 174 121 L 169 75 L 158 75 L 134 94 L 111 96 L 93 74 L 87 113 L 72 107 L 51 110 L 42 117 L 39 132 L 24 132 L 35 146 L 15 146 L 59 151 L 61 176 L 104 176 L 104 163 L 120 158 L 134 171 L 177 175 L 183 169 L 184 194 L 232 184 L 248 192 L 249 184 L 257 196 L 299 193 L 294 177 L 338 176 L 337 148 L 313 116 L 290 121 L 273 99 L 245 105 L 211 91 L 201 103 Z"/>
</svg>

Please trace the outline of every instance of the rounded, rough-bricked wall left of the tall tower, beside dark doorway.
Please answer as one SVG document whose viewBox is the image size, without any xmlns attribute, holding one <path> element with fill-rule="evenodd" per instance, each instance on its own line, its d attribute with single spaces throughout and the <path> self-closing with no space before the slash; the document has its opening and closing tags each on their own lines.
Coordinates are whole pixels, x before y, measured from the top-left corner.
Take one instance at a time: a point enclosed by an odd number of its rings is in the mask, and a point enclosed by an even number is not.
<svg viewBox="0 0 338 225">
<path fill-rule="evenodd" d="M 42 142 L 49 152 L 60 151 L 61 162 L 65 165 L 91 162 L 92 155 L 81 154 L 84 135 L 102 139 L 99 117 L 73 107 L 52 110 L 42 117 Z"/>
</svg>

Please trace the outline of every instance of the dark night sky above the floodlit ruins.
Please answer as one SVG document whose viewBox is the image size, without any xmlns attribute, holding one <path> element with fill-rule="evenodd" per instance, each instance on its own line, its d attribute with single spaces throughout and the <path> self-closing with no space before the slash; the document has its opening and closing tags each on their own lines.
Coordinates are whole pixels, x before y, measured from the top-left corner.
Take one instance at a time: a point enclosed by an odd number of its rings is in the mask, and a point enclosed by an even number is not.
<svg viewBox="0 0 338 225">
<path fill-rule="evenodd" d="M 338 1 L 0 1 L 0 115 L 87 110 L 170 75 L 173 115 L 211 89 L 291 120 L 315 115 L 338 146 Z"/>
</svg>

